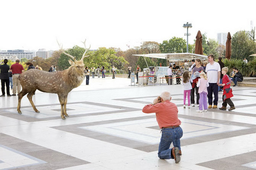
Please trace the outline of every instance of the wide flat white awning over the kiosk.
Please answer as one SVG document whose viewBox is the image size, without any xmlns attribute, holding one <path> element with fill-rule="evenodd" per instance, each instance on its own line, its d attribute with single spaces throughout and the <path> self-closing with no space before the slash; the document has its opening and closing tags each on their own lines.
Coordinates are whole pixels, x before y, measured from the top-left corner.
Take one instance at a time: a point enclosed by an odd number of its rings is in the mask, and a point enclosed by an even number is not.
<svg viewBox="0 0 256 170">
<path fill-rule="evenodd" d="M 151 58 L 160 58 L 167 59 L 168 61 L 184 61 L 191 59 L 206 59 L 207 56 L 193 54 L 193 53 L 159 53 L 159 54 L 141 54 L 141 55 L 133 55 L 133 56 L 143 56 L 143 57 L 151 57 Z"/>
</svg>

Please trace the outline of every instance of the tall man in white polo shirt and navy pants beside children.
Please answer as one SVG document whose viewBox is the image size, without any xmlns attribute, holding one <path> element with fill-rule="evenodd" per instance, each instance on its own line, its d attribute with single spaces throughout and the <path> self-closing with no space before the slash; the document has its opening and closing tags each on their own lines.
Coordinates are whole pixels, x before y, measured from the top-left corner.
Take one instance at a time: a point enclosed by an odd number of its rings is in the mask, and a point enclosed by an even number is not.
<svg viewBox="0 0 256 170">
<path fill-rule="evenodd" d="M 206 65 L 205 72 L 207 74 L 209 87 L 207 87 L 208 108 L 217 108 L 218 105 L 218 85 L 220 82 L 220 64 L 214 61 L 214 55 L 208 56 L 209 63 Z M 214 101 L 212 106 L 212 93 L 214 94 Z"/>
</svg>

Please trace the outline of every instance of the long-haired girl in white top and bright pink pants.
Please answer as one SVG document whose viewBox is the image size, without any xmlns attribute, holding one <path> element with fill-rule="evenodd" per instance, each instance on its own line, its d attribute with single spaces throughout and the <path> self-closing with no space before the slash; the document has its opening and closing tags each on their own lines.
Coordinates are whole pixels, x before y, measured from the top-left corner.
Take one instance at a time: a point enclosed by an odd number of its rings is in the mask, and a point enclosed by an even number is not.
<svg viewBox="0 0 256 170">
<path fill-rule="evenodd" d="M 183 72 L 181 82 L 182 86 L 184 87 L 183 107 L 186 108 L 186 97 L 188 96 L 188 108 L 190 108 L 190 90 L 192 89 L 191 83 L 193 82 L 193 80 L 190 78 L 190 74 L 188 71 Z"/>
</svg>

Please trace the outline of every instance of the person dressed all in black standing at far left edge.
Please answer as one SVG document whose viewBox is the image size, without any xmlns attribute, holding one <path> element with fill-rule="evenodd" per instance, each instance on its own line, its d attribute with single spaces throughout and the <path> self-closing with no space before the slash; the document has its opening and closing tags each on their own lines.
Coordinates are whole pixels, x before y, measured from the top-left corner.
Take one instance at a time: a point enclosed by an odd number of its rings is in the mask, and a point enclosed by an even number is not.
<svg viewBox="0 0 256 170">
<path fill-rule="evenodd" d="M 4 64 L 3 64 L 4 63 Z M 10 86 L 9 86 L 9 70 L 10 66 L 7 65 L 8 59 L 3 60 L 3 65 L 0 65 L 1 73 L 0 73 L 0 78 L 1 78 L 1 85 L 2 85 L 2 95 L 1 97 L 5 96 L 5 85 L 6 85 L 6 93 L 7 96 L 10 95 Z"/>
</svg>

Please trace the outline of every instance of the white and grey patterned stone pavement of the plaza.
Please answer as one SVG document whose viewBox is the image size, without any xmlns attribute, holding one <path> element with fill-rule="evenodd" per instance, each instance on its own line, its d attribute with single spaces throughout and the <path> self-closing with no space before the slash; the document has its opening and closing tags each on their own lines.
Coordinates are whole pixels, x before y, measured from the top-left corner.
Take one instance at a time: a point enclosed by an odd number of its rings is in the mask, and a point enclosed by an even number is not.
<svg viewBox="0 0 256 170">
<path fill-rule="evenodd" d="M 0 170 L 256 170 L 256 88 L 232 87 L 236 109 L 183 108 L 181 85 L 134 87 L 130 79 L 90 79 L 68 95 L 62 120 L 56 94 L 0 98 Z M 155 114 L 141 110 L 170 91 L 183 128 L 181 161 L 157 156 Z M 219 93 L 218 107 L 222 104 Z M 229 106 L 228 106 L 229 108 Z"/>
</svg>

